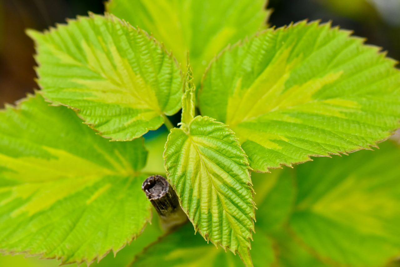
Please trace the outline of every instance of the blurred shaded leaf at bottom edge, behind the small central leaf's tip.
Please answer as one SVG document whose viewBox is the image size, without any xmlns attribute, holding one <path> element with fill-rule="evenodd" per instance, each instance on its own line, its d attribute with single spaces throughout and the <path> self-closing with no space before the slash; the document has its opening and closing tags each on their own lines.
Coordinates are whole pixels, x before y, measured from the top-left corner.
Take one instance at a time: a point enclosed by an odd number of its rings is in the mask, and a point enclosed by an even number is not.
<svg viewBox="0 0 400 267">
<path fill-rule="evenodd" d="M 261 234 L 255 235 L 252 247 L 254 266 L 268 267 L 274 263 L 274 251 L 270 239 Z M 148 267 L 160 263 L 168 267 L 243 266 L 239 257 L 225 253 L 221 248 L 207 244 L 201 237 L 194 235 L 193 227 L 189 224 L 146 248 L 130 266 Z"/>
</svg>

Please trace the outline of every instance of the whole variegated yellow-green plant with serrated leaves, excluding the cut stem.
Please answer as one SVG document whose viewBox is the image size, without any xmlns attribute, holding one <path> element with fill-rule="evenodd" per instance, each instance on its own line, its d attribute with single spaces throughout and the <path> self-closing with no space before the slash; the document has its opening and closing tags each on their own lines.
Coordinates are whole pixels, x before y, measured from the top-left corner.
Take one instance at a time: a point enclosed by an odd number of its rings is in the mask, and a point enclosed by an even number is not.
<svg viewBox="0 0 400 267">
<path fill-rule="evenodd" d="M 28 30 L 40 90 L 0 112 L 0 251 L 62 263 L 116 253 L 151 221 L 141 185 L 160 174 L 193 225 L 144 229 L 162 237 L 124 264 L 399 256 L 397 145 L 267 173 L 388 139 L 400 127 L 396 62 L 329 23 L 267 28 L 265 6 L 113 0 L 104 15 Z M 145 134 L 162 124 L 157 148 Z"/>
</svg>

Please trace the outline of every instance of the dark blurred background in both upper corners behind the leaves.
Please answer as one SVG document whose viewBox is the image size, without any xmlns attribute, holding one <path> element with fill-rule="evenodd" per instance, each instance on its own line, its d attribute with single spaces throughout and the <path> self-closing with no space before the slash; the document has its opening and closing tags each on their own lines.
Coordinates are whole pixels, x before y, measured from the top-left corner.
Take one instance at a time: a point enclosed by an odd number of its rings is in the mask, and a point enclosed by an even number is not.
<svg viewBox="0 0 400 267">
<path fill-rule="evenodd" d="M 376 8 L 380 2 L 389 4 Z M 270 0 L 274 12 L 270 25 L 277 27 L 308 18 L 332 21 L 354 30 L 368 44 L 388 50 L 400 60 L 400 0 Z M 396 3 L 397 9 L 396 9 Z M 392 6 L 390 6 L 392 4 Z M 393 6 L 395 8 L 393 8 Z M 65 18 L 104 12 L 103 0 L 0 0 L 0 107 L 14 103 L 38 88 L 34 82 L 33 42 L 24 29 L 44 30 Z M 383 11 L 382 11 L 383 10 Z"/>
</svg>

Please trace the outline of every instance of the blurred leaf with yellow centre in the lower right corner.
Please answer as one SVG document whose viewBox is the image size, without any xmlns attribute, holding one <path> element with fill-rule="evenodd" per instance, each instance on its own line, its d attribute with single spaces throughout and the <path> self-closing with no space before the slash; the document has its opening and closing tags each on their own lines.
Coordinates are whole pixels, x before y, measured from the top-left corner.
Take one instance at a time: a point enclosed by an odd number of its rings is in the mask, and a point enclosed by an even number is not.
<svg viewBox="0 0 400 267">
<path fill-rule="evenodd" d="M 334 266 L 384 266 L 400 255 L 400 148 L 297 167 L 290 227 L 296 239 Z"/>
</svg>

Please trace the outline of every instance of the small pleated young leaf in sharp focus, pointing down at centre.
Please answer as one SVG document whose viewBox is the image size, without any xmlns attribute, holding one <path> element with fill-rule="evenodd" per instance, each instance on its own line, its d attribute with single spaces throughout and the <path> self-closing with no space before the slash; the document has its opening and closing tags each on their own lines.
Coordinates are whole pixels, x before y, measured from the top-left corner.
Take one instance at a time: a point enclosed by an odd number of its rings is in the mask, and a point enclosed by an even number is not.
<svg viewBox="0 0 400 267">
<path fill-rule="evenodd" d="M 248 161 L 234 133 L 221 122 L 197 116 L 187 129 L 172 129 L 164 159 L 168 181 L 195 230 L 238 252 L 251 266 L 253 191 Z"/>
</svg>

